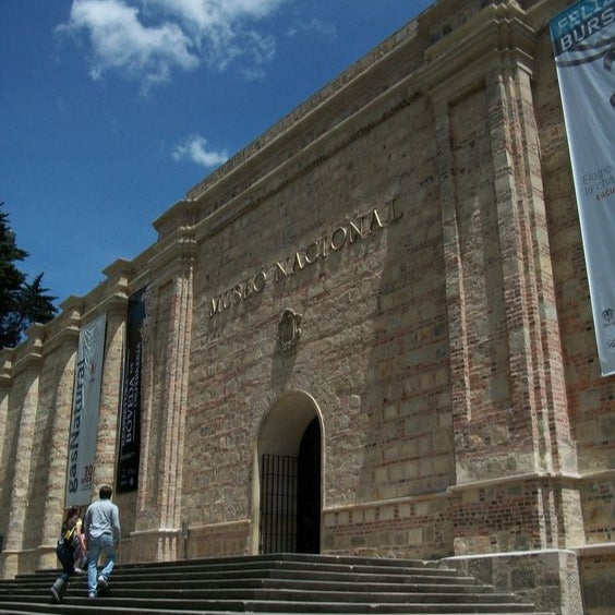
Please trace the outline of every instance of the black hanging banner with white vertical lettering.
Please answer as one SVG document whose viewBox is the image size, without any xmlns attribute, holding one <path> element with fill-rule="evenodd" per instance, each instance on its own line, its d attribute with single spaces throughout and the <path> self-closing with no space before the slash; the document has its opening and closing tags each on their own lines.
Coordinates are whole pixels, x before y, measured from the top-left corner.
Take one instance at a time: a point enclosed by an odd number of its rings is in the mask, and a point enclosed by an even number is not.
<svg viewBox="0 0 615 615">
<path fill-rule="evenodd" d="M 142 329 L 146 316 L 145 290 L 143 288 L 129 298 L 117 480 L 117 490 L 120 493 L 134 491 L 138 486 Z"/>
</svg>

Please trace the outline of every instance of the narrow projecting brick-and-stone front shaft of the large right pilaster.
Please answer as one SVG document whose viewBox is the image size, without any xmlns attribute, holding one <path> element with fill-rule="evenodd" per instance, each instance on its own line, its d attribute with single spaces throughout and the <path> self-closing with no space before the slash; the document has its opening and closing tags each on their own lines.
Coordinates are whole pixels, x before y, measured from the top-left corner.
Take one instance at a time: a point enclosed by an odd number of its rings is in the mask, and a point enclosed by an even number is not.
<svg viewBox="0 0 615 615">
<path fill-rule="evenodd" d="M 530 412 L 534 470 L 576 472 L 530 80 L 506 57 L 489 77 L 510 393 Z"/>
</svg>

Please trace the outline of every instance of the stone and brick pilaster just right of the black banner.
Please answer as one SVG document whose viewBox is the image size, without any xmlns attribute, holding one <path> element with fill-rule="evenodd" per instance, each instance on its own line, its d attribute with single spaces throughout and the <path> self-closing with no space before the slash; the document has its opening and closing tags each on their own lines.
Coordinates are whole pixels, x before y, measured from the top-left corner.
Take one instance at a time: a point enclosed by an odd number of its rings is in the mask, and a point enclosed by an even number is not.
<svg viewBox="0 0 615 615">
<path fill-rule="evenodd" d="M 135 523 L 145 558 L 174 559 L 179 555 L 194 249 L 194 239 L 182 228 L 150 263 L 157 284 L 148 289 L 147 300 L 145 437 Z M 141 510 L 150 514 L 141 516 Z"/>
</svg>

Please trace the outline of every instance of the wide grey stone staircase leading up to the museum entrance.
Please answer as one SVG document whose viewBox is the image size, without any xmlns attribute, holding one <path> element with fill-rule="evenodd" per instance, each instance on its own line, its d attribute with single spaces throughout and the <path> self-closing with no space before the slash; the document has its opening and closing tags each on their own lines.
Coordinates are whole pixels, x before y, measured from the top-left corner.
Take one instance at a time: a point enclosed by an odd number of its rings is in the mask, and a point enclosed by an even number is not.
<svg viewBox="0 0 615 615">
<path fill-rule="evenodd" d="M 108 595 L 87 598 L 86 576 L 51 604 L 57 570 L 0 580 L 0 614 L 396 615 L 526 613 L 532 604 L 497 593 L 437 562 L 272 554 L 117 566 Z"/>
</svg>

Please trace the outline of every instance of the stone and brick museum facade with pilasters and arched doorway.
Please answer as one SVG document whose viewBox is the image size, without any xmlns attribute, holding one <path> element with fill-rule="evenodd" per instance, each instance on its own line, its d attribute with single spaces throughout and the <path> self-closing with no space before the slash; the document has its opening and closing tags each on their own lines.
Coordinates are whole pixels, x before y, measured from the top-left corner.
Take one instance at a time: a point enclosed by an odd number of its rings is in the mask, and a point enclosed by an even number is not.
<svg viewBox="0 0 615 615">
<path fill-rule="evenodd" d="M 0 354 L 3 577 L 56 565 L 79 330 L 102 313 L 95 483 L 114 480 L 146 288 L 122 562 L 437 558 L 613 613 L 615 377 L 547 28 L 567 4 L 435 2 Z"/>
</svg>

